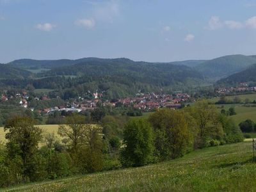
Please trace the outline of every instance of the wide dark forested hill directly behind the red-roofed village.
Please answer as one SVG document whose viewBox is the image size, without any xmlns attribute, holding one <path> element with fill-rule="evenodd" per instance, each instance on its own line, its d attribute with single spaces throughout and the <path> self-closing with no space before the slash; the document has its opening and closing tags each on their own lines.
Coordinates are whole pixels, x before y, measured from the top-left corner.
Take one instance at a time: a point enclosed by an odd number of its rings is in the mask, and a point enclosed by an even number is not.
<svg viewBox="0 0 256 192">
<path fill-rule="evenodd" d="M 81 60 L 80 60 L 81 61 Z M 12 66 L 12 65 L 11 65 Z M 147 63 L 125 58 L 86 58 L 82 62 L 55 67 L 23 81 L 4 80 L 6 86 L 54 90 L 63 99 L 75 98 L 100 90 L 108 99 L 133 96 L 143 92 L 188 91 L 205 83 L 195 69 L 170 63 Z"/>
</svg>

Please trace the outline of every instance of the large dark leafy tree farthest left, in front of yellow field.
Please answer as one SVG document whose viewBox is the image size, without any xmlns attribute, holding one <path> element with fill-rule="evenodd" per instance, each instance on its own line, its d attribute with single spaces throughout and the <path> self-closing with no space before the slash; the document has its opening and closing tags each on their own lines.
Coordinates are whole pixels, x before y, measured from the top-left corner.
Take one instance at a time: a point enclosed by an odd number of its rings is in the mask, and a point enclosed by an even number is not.
<svg viewBox="0 0 256 192">
<path fill-rule="evenodd" d="M 21 159 L 20 167 L 24 177 L 36 180 L 35 156 L 38 143 L 42 140 L 42 129 L 35 127 L 35 120 L 29 117 L 15 117 L 7 121 L 4 131 L 6 133 L 6 148 L 10 159 Z"/>
</svg>

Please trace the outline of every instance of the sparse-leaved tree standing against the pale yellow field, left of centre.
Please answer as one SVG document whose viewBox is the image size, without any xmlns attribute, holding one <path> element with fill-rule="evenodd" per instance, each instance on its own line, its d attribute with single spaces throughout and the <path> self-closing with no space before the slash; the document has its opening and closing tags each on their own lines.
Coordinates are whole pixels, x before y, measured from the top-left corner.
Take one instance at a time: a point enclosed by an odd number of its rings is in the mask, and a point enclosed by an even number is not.
<svg viewBox="0 0 256 192">
<path fill-rule="evenodd" d="M 65 125 L 59 125 L 58 134 L 72 141 L 72 149 L 77 150 L 77 145 L 84 140 L 89 124 L 84 124 L 84 116 L 76 113 L 67 116 Z"/>
</svg>

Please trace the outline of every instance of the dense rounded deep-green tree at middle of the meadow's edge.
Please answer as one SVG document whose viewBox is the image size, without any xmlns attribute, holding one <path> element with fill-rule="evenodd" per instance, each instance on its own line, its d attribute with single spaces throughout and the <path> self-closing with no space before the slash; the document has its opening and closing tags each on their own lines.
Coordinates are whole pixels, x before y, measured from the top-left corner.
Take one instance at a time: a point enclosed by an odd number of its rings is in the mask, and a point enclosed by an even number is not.
<svg viewBox="0 0 256 192">
<path fill-rule="evenodd" d="M 124 129 L 124 166 L 143 166 L 152 161 L 154 138 L 151 125 L 144 119 L 131 119 Z"/>
</svg>

